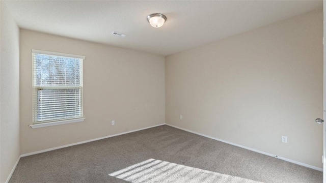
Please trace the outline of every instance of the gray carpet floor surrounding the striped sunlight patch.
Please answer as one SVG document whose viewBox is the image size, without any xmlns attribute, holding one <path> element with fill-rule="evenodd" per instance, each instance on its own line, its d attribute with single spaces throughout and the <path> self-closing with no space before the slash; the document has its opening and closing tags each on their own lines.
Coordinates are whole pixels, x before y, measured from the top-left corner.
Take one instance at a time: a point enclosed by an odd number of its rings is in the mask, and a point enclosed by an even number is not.
<svg viewBox="0 0 326 183">
<path fill-rule="evenodd" d="M 9 182 L 322 182 L 322 172 L 169 126 L 20 159 Z"/>
</svg>

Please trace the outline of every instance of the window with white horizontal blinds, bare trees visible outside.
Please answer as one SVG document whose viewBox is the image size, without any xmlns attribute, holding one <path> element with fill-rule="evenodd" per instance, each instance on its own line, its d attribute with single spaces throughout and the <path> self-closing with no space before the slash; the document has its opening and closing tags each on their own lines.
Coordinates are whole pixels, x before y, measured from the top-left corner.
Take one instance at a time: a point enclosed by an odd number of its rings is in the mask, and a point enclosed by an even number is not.
<svg viewBox="0 0 326 183">
<path fill-rule="evenodd" d="M 83 118 L 85 56 L 32 50 L 33 125 L 72 123 Z M 59 123 L 58 123 L 59 122 Z"/>
</svg>

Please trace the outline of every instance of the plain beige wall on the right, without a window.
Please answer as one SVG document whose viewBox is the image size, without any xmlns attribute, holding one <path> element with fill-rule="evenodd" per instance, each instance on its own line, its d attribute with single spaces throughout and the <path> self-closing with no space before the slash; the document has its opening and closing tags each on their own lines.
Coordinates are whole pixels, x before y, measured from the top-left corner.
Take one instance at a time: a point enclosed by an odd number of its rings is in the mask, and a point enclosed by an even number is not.
<svg viewBox="0 0 326 183">
<path fill-rule="evenodd" d="M 167 56 L 166 123 L 321 168 L 322 25 L 319 10 Z"/>
</svg>

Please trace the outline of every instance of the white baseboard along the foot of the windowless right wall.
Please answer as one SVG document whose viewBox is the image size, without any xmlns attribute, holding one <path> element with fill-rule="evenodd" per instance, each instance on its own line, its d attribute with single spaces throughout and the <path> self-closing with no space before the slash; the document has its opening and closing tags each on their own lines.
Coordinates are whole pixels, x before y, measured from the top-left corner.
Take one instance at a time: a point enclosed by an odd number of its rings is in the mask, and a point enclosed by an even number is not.
<svg viewBox="0 0 326 183">
<path fill-rule="evenodd" d="M 260 154 L 267 155 L 267 156 L 270 156 L 270 157 L 278 158 L 280 160 L 284 160 L 284 161 L 287 161 L 287 162 L 291 162 L 291 163 L 294 163 L 294 164 L 297 164 L 297 165 L 301 165 L 301 166 L 308 167 L 308 168 L 311 168 L 311 169 L 318 170 L 318 171 L 321 171 L 322 172 L 322 168 L 319 168 L 319 167 L 316 167 L 316 166 L 308 165 L 306 163 L 302 163 L 302 162 L 298 162 L 298 161 L 295 161 L 295 160 L 291 160 L 291 159 L 287 159 L 287 158 L 284 158 L 284 157 L 280 157 L 280 156 L 277 156 L 277 155 L 273 155 L 273 154 L 270 154 L 270 153 L 266 153 L 266 152 L 261 151 L 261 150 L 257 150 L 257 149 L 246 147 L 246 146 L 239 145 L 239 144 L 236 144 L 236 143 L 228 142 L 226 140 L 222 140 L 222 139 L 218 139 L 218 138 L 211 137 L 211 136 L 208 136 L 208 135 L 204 135 L 204 134 L 201 134 L 201 133 L 198 133 L 198 132 L 194 132 L 194 131 L 191 131 L 191 130 L 187 130 L 187 129 L 184 129 L 184 128 L 181 128 L 181 127 L 177 127 L 177 126 L 174 126 L 174 125 L 170 125 L 170 124 L 166 124 L 166 125 L 168 125 L 170 127 L 173 127 L 173 128 L 177 128 L 177 129 L 186 131 L 186 132 L 190 132 L 190 133 L 197 134 L 197 135 L 200 135 L 200 136 L 203 136 L 203 137 L 207 137 L 207 138 L 210 138 L 210 139 L 221 141 L 221 142 L 224 142 L 224 143 L 227 143 L 227 144 L 231 144 L 231 145 L 234 145 L 234 146 L 237 146 L 237 147 L 241 147 L 241 148 L 244 148 L 244 149 L 255 151 L 256 153 L 260 153 Z"/>
</svg>

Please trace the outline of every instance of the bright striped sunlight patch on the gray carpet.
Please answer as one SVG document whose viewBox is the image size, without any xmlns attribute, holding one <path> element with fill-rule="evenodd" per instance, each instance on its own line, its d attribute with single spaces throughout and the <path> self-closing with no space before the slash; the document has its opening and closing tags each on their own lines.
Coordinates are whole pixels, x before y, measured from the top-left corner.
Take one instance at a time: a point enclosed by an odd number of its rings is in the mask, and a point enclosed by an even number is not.
<svg viewBox="0 0 326 183">
<path fill-rule="evenodd" d="M 140 182 L 241 182 L 258 183 L 246 178 L 202 170 L 166 161 L 149 159 L 108 174 L 132 183 Z"/>
</svg>

